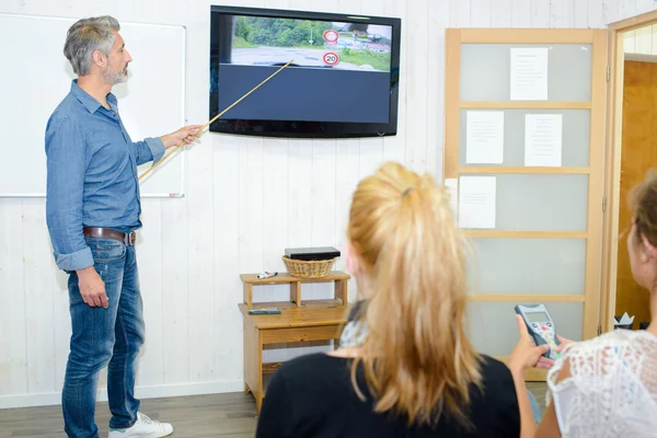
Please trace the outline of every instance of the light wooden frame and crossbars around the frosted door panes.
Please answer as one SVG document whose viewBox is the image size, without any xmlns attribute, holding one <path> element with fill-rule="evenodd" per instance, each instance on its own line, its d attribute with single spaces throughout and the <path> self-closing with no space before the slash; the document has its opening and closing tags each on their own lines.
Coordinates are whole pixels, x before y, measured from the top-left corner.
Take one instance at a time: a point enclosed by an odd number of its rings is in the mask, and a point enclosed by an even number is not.
<svg viewBox="0 0 657 438">
<path fill-rule="evenodd" d="M 512 174 L 586 174 L 589 177 L 587 206 L 587 230 L 584 232 L 557 231 L 502 231 L 466 230 L 470 238 L 570 238 L 586 239 L 585 290 L 581 295 L 509 295 L 474 293 L 471 301 L 517 302 L 519 299 L 541 302 L 583 302 L 583 336 L 593 337 L 600 321 L 600 263 L 604 171 L 604 99 L 607 91 L 607 38 L 606 30 L 493 30 L 448 28 L 446 30 L 446 95 L 445 95 L 445 149 L 442 177 L 456 178 L 461 174 L 512 173 Z M 591 44 L 591 96 L 587 102 L 504 101 L 465 102 L 460 100 L 461 44 Z M 600 49 L 601 47 L 601 49 Z M 598 48 L 598 49 L 596 49 Z M 526 168 L 526 166 L 460 166 L 460 111 L 476 110 L 574 110 L 590 108 L 590 162 L 583 168 Z M 590 256 L 592 255 L 592 257 Z M 505 358 L 500 358 L 505 359 Z M 544 380 L 541 370 L 526 376 L 528 380 Z"/>
</svg>

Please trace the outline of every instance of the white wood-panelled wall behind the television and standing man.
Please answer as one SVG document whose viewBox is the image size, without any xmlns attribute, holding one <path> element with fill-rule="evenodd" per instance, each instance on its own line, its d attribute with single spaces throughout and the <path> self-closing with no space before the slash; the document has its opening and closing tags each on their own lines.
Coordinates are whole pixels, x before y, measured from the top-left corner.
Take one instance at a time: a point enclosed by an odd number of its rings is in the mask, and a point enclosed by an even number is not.
<svg viewBox="0 0 657 438">
<path fill-rule="evenodd" d="M 187 26 L 188 119 L 205 123 L 211 3 L 0 0 L 0 12 L 112 14 L 119 21 Z M 603 27 L 655 8 L 652 0 L 231 3 L 402 18 L 399 134 L 361 140 L 204 136 L 203 143 L 188 152 L 187 196 L 142 203 L 145 228 L 138 252 L 147 344 L 139 368 L 140 396 L 241 390 L 239 274 L 283 270 L 280 255 L 287 246 L 341 247 L 351 191 L 384 160 L 441 176 L 446 27 Z M 5 64 L 21 68 L 20 59 L 5 59 Z M 166 67 L 162 59 L 162 68 Z M 11 140 L 20 139 L 20 132 L 4 137 L 10 140 L 4 143 L 7 160 Z M 66 277 L 53 263 L 44 206 L 44 199 L 0 199 L 0 407 L 59 402 L 70 323 Z M 337 267 L 343 267 L 342 262 Z M 330 293 L 319 286 L 304 290 L 318 298 Z M 284 293 L 268 288 L 262 297 Z M 266 356 L 279 360 L 309 348 L 318 347 L 266 351 Z"/>
</svg>

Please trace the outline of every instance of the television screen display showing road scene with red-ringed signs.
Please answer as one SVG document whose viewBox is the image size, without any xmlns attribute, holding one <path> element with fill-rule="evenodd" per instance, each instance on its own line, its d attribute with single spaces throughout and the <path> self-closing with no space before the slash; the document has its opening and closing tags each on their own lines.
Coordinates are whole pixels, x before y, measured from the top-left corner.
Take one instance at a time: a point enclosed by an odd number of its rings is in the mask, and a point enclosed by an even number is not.
<svg viewBox="0 0 657 438">
<path fill-rule="evenodd" d="M 392 26 L 228 15 L 211 67 L 218 108 L 293 59 L 230 111 L 240 120 L 387 124 Z"/>
</svg>

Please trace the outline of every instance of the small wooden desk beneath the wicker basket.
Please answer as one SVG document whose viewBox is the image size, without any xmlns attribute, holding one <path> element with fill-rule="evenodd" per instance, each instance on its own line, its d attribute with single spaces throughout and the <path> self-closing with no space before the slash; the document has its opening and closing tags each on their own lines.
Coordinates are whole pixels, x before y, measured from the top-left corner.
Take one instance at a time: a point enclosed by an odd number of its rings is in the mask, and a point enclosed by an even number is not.
<svg viewBox="0 0 657 438">
<path fill-rule="evenodd" d="M 256 274 L 240 275 L 244 286 L 244 302 L 239 304 L 244 324 L 244 391 L 255 397 L 260 414 L 269 378 L 281 362 L 263 364 L 263 348 L 267 344 L 309 341 L 338 341 L 347 322 L 347 281 L 350 276 L 334 270 L 322 278 L 302 279 L 287 273 L 270 278 Z M 301 285 L 334 281 L 334 299 L 302 300 Z M 253 287 L 258 285 L 290 285 L 290 301 L 253 302 Z M 279 308 L 280 314 L 249 314 L 250 309 Z M 337 345 L 337 343 L 335 343 Z"/>
</svg>

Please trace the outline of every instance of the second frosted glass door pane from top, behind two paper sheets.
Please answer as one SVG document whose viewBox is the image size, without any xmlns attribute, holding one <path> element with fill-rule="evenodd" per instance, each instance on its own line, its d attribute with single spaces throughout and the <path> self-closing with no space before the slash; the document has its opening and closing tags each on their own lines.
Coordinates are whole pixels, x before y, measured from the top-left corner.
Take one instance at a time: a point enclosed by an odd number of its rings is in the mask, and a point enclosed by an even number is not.
<svg viewBox="0 0 657 438">
<path fill-rule="evenodd" d="M 466 122 L 469 111 L 481 110 L 461 110 L 459 165 L 523 166 L 526 114 L 562 114 L 562 166 L 589 165 L 589 110 L 491 110 L 504 112 L 504 161 L 502 162 L 502 164 L 466 163 L 465 145 L 468 141 Z"/>
</svg>

